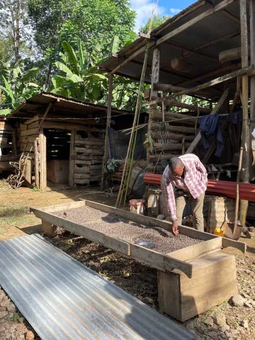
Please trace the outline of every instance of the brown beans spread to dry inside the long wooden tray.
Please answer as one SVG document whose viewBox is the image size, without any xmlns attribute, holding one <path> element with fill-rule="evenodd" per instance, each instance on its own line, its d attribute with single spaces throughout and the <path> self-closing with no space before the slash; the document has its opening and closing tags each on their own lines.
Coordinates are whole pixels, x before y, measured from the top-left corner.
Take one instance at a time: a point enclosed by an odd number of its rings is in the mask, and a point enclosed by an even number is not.
<svg viewBox="0 0 255 340">
<path fill-rule="evenodd" d="M 188 236 L 173 234 L 159 227 L 147 227 L 135 222 L 127 221 L 113 214 L 100 212 L 90 207 L 81 207 L 53 213 L 56 216 L 84 225 L 91 221 L 91 229 L 106 233 L 108 236 L 136 243 L 149 241 L 155 244 L 153 250 L 163 254 L 186 248 L 202 242 Z M 96 222 L 95 222 L 96 220 Z M 93 222 L 94 221 L 94 222 Z"/>
</svg>

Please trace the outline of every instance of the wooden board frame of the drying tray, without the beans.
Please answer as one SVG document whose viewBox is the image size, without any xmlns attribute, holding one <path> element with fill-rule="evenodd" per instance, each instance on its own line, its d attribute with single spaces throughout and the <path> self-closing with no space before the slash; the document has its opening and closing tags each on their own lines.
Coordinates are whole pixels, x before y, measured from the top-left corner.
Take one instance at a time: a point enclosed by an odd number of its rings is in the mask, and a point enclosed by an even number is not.
<svg viewBox="0 0 255 340">
<path fill-rule="evenodd" d="M 60 204 L 56 206 L 49 206 L 40 209 L 31 208 L 31 212 L 33 212 L 36 215 L 36 217 L 40 218 L 42 221 L 46 221 L 50 225 L 61 226 L 62 228 L 70 232 L 77 233 L 86 239 L 100 243 L 105 247 L 111 248 L 124 255 L 130 256 L 138 261 L 142 261 L 143 263 L 155 267 L 161 271 L 170 272 L 173 269 L 178 269 L 185 273 L 189 278 L 192 277 L 192 265 L 187 261 L 189 261 L 191 258 L 198 258 L 206 253 L 214 252 L 219 250 L 221 247 L 227 246 L 233 246 L 245 252 L 245 244 L 241 242 L 236 242 L 232 240 L 222 241 L 223 240 L 222 238 L 209 234 L 207 232 L 202 232 L 195 230 L 193 228 L 180 226 L 179 227 L 180 233 L 183 233 L 190 237 L 198 238 L 205 242 L 184 248 L 182 249 L 182 251 L 175 251 L 167 255 L 164 255 L 157 251 L 153 251 L 151 249 L 147 249 L 121 239 L 116 239 L 108 236 L 107 234 L 91 229 L 89 226 L 90 223 L 95 221 L 93 219 L 86 222 L 83 225 L 80 225 L 78 223 L 69 221 L 67 219 L 52 214 L 53 212 L 82 206 L 89 206 L 105 213 L 115 214 L 119 217 L 143 225 L 151 227 L 155 226 L 161 227 L 167 230 L 171 229 L 170 222 L 160 221 L 143 215 L 132 214 L 130 212 L 118 208 L 114 208 L 105 204 L 100 204 L 88 200 Z"/>
</svg>

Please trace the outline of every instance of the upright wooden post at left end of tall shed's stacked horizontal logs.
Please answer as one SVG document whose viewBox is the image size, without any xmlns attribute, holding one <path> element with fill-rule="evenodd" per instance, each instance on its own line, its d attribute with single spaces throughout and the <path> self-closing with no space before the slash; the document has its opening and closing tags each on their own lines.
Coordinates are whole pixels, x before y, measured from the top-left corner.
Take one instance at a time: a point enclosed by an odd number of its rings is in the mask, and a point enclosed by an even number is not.
<svg viewBox="0 0 255 340">
<path fill-rule="evenodd" d="M 152 56 L 152 66 L 151 66 L 151 88 L 150 88 L 150 101 L 158 97 L 158 91 L 154 91 L 154 84 L 159 83 L 159 72 L 160 72 L 160 49 L 159 47 L 154 48 Z M 149 108 L 149 121 L 148 121 L 148 135 L 151 134 L 151 123 L 152 116 L 157 108 L 157 104 L 151 105 Z M 162 117 L 163 119 L 163 117 Z M 149 165 L 149 146 L 147 146 L 147 166 Z"/>
</svg>

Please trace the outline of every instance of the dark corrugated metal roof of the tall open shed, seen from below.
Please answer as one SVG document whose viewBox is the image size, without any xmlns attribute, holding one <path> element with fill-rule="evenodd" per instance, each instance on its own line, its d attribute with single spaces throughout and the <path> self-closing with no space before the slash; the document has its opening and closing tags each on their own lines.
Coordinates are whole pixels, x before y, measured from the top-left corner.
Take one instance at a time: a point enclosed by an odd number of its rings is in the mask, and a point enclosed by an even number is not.
<svg viewBox="0 0 255 340">
<path fill-rule="evenodd" d="M 160 25 L 160 27 L 152 31 L 150 36 L 159 39 L 221 2 L 222 0 L 199 0 L 179 14 L 168 19 Z M 221 51 L 241 46 L 239 11 L 239 2 L 236 1 L 228 5 L 224 10 L 200 20 L 190 28 L 160 44 L 160 83 L 187 87 L 190 87 L 189 84 L 196 86 L 227 73 L 228 69 L 233 71 L 234 69 L 240 68 L 238 64 L 219 63 L 219 53 Z M 142 46 L 145 46 L 146 42 L 147 40 L 144 38 L 137 39 L 131 45 L 120 50 L 117 54 L 118 57 L 112 56 L 101 63 L 99 67 L 107 71 L 113 70 L 124 59 L 131 56 Z M 150 83 L 152 48 L 153 46 L 149 49 L 145 74 L 145 81 L 147 83 Z M 185 61 L 191 65 L 191 71 L 184 73 L 173 70 L 170 65 L 171 59 L 185 55 L 188 53 L 187 50 L 192 51 L 192 53 L 185 57 Z M 140 80 L 143 60 L 144 51 L 123 65 L 116 71 L 116 74 Z M 221 68 L 222 72 L 220 70 Z M 222 86 L 223 85 L 218 85 L 214 87 L 213 94 L 215 97 L 220 96 Z"/>
</svg>

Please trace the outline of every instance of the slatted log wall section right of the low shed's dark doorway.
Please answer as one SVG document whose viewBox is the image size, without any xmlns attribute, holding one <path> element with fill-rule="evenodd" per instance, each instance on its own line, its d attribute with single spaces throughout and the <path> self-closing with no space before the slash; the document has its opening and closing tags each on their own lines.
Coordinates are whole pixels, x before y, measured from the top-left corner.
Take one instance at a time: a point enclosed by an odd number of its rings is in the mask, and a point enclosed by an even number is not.
<svg viewBox="0 0 255 340">
<path fill-rule="evenodd" d="M 104 129 L 95 134 L 88 132 L 86 137 L 75 131 L 73 142 L 74 160 L 73 184 L 89 185 L 101 180 L 104 155 Z"/>
</svg>

